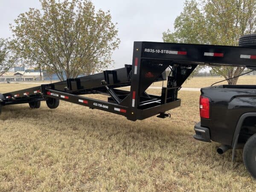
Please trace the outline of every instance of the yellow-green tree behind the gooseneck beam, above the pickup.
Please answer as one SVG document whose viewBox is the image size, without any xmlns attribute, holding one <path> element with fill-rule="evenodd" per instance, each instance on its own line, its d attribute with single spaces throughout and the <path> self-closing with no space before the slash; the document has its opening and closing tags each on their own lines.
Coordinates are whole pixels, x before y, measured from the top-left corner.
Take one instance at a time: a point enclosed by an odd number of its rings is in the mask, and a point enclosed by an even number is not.
<svg viewBox="0 0 256 192">
<path fill-rule="evenodd" d="M 237 46 L 239 37 L 256 33 L 256 0 L 195 0 L 184 3 L 175 32 L 163 32 L 165 42 Z M 202 66 L 201 66 L 202 67 Z M 199 68 L 200 69 L 200 68 Z M 236 84 L 245 67 L 211 67 L 228 84 Z M 230 79 L 230 80 L 228 80 Z"/>
</svg>

